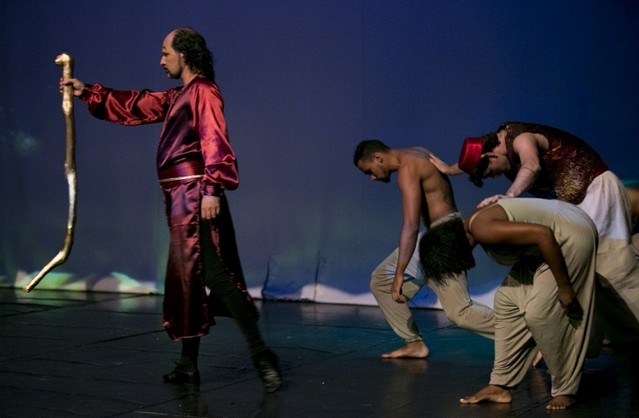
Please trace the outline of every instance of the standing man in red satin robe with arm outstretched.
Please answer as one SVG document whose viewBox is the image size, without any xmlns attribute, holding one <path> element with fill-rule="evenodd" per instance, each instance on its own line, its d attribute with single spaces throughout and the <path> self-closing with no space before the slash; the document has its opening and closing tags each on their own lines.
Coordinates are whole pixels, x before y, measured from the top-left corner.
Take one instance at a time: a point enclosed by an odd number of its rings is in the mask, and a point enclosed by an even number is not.
<svg viewBox="0 0 639 418">
<path fill-rule="evenodd" d="M 164 381 L 200 382 L 200 337 L 215 323 L 213 315 L 220 314 L 235 319 L 266 391 L 274 392 L 281 386 L 278 359 L 257 327 L 224 194 L 238 187 L 239 176 L 213 56 L 200 34 L 178 28 L 164 39 L 160 65 L 182 86 L 123 91 L 71 79 L 61 80 L 60 87 L 73 86 L 74 95 L 99 119 L 127 126 L 163 123 L 157 169 L 171 233 L 164 327 L 182 342 L 180 360 Z"/>
</svg>

